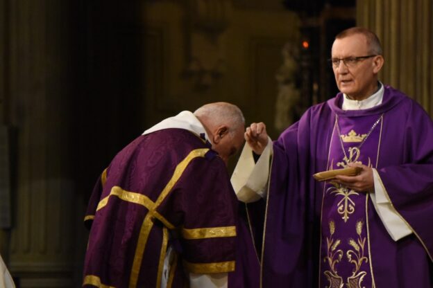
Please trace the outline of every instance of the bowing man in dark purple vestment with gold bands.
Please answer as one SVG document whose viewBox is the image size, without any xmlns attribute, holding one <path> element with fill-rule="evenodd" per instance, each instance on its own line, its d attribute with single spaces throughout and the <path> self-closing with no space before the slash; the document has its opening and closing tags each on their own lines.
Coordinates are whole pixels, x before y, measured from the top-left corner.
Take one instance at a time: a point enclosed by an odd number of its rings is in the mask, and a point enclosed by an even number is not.
<svg viewBox="0 0 433 288">
<path fill-rule="evenodd" d="M 226 164 L 244 122 L 235 105 L 211 103 L 114 157 L 87 208 L 83 287 L 228 287 L 239 232 Z"/>
</svg>

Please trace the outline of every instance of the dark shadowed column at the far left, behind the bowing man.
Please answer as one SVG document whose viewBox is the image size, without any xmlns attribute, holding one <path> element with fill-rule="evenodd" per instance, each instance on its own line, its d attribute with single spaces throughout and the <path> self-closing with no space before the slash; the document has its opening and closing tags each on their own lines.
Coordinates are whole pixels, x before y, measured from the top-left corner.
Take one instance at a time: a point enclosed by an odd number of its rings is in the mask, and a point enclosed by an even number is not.
<svg viewBox="0 0 433 288">
<path fill-rule="evenodd" d="M 80 287 L 74 267 L 76 255 L 85 251 L 76 228 L 83 211 L 70 156 L 74 111 L 69 107 L 77 92 L 73 55 L 79 48 L 71 39 L 72 2 L 10 0 L 6 11 L 6 110 L 17 155 L 8 266 L 23 288 Z"/>
</svg>

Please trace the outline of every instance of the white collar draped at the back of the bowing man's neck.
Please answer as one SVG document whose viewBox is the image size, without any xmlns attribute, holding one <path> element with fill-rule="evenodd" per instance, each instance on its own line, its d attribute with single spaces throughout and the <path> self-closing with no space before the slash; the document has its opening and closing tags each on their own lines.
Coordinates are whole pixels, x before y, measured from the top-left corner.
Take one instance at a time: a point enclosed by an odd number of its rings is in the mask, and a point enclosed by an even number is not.
<svg viewBox="0 0 433 288">
<path fill-rule="evenodd" d="M 198 120 L 190 111 L 182 111 L 176 116 L 162 120 L 160 123 L 144 131 L 143 135 L 169 128 L 186 129 L 196 134 L 198 137 L 201 137 L 202 139 L 203 135 L 205 137 L 203 140 L 209 141 L 209 136 L 207 136 L 205 127 L 203 127 L 200 120 Z"/>
</svg>

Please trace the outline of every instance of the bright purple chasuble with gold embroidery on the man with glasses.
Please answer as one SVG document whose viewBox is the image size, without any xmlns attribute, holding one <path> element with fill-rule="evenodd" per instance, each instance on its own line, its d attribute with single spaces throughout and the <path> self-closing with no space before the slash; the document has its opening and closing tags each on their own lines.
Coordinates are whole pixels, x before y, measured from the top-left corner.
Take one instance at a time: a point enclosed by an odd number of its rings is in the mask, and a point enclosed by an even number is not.
<svg viewBox="0 0 433 288">
<path fill-rule="evenodd" d="M 433 123 L 400 91 L 341 110 L 311 107 L 273 143 L 262 287 L 432 287 Z M 359 161 L 376 168 L 412 233 L 393 241 L 371 198 L 312 174 Z"/>
</svg>

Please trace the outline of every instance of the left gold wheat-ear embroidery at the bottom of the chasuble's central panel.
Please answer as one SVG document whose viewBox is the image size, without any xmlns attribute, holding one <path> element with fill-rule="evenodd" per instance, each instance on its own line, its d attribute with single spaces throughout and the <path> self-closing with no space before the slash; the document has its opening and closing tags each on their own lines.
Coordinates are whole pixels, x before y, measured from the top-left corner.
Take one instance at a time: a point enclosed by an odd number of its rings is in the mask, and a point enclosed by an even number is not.
<svg viewBox="0 0 433 288">
<path fill-rule="evenodd" d="M 341 244 L 341 240 L 337 239 L 337 241 L 334 242 L 334 239 L 332 238 L 332 235 L 334 235 L 335 232 L 334 221 L 331 220 L 329 222 L 329 226 L 331 235 L 330 237 L 326 237 L 326 243 L 328 244 L 328 255 L 323 259 L 323 261 L 328 261 L 331 271 L 327 270 L 324 272 L 324 274 L 330 284 L 328 288 L 342 288 L 343 278 L 338 275 L 337 270 L 335 269 L 335 264 L 340 262 L 341 258 L 343 257 L 343 251 L 341 249 L 336 251 L 339 244 Z"/>
</svg>

